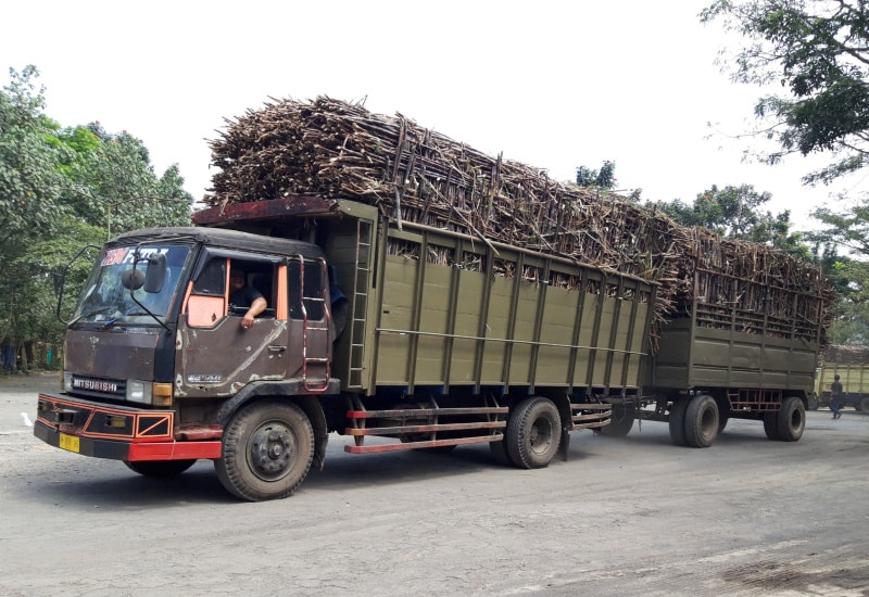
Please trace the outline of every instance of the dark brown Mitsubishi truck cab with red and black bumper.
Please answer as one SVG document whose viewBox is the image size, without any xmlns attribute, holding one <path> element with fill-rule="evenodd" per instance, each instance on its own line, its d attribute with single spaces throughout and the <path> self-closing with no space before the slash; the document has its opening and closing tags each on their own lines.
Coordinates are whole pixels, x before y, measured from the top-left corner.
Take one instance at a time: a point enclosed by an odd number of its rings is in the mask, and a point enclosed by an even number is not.
<svg viewBox="0 0 869 597">
<path fill-rule="evenodd" d="M 229 275 L 267 308 L 250 327 Z M 269 383 L 333 392 L 327 264 L 311 243 L 234 230 L 159 228 L 109 242 L 65 338 L 63 391 L 39 396 L 35 434 L 71 452 L 175 472 L 219 458 L 227 403 Z"/>
</svg>

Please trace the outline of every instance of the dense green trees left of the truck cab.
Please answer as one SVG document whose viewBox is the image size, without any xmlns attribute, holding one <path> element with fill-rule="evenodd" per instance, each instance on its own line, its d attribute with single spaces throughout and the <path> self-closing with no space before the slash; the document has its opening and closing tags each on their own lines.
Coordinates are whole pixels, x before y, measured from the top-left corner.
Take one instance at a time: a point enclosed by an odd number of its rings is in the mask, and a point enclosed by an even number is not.
<svg viewBox="0 0 869 597">
<path fill-rule="evenodd" d="M 10 69 L 0 92 L 0 344 L 60 343 L 52 272 L 86 244 L 150 226 L 188 225 L 177 165 L 155 176 L 142 142 L 99 123 L 62 128 L 43 114 L 39 73 Z M 89 271 L 74 264 L 65 298 Z M 70 313 L 66 305 L 65 313 Z"/>
</svg>

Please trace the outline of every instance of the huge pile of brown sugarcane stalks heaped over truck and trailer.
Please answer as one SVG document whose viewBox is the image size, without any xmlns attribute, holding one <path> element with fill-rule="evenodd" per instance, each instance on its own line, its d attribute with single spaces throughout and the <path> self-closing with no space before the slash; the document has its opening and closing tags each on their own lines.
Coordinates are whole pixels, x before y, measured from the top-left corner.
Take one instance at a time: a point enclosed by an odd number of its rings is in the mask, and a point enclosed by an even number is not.
<svg viewBox="0 0 869 597">
<path fill-rule="evenodd" d="M 832 293 L 813 264 L 552 180 L 401 114 L 320 97 L 273 100 L 227 125 L 210 143 L 219 168 L 205 196 L 212 206 L 292 195 L 364 201 L 401 221 L 655 281 L 658 321 L 702 305 L 702 325 L 814 338 L 831 318 Z"/>
</svg>

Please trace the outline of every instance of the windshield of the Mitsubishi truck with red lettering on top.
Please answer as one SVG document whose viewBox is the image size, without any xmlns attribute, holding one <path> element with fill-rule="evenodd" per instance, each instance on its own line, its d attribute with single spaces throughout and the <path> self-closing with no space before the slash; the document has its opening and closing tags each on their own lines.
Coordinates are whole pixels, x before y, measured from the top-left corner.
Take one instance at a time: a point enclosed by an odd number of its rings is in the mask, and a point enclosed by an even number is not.
<svg viewBox="0 0 869 597">
<path fill-rule="evenodd" d="M 148 293 L 143 288 L 125 288 L 123 274 L 131 270 L 135 264 L 136 269 L 143 275 L 149 255 L 158 253 L 166 257 L 166 278 L 160 292 Z M 156 325 L 158 321 L 148 312 L 160 318 L 160 321 L 165 321 L 173 298 L 177 295 L 181 270 L 189 254 L 190 246 L 173 244 L 139 246 L 138 250 L 136 246 L 103 250 L 85 283 L 73 321 Z M 129 278 L 127 275 L 128 285 Z"/>
</svg>

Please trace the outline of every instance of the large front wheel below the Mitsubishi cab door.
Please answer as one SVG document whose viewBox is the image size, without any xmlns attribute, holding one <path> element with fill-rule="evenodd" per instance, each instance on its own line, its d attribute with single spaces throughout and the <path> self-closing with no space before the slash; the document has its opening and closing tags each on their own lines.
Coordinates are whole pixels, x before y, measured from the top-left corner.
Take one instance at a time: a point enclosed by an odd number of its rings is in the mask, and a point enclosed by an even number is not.
<svg viewBox="0 0 869 597">
<path fill-rule="evenodd" d="M 304 481 L 314 458 L 314 430 L 291 403 L 261 402 L 239 410 L 214 461 L 226 490 L 248 501 L 280 499 Z"/>
</svg>

